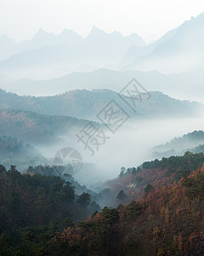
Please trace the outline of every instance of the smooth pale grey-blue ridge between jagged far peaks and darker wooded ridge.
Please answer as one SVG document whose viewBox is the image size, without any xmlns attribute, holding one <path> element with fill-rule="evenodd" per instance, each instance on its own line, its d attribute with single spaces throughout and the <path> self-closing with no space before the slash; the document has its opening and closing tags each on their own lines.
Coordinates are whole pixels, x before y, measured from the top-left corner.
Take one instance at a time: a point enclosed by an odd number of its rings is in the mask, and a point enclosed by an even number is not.
<svg viewBox="0 0 204 256">
<path fill-rule="evenodd" d="M 77 89 L 111 89 L 122 90 L 128 81 L 136 78 L 148 90 L 164 90 L 174 86 L 173 79 L 156 72 L 143 73 L 139 71 L 116 72 L 101 68 L 90 73 L 70 73 L 56 79 L 16 79 L 13 82 L 1 82 L 1 89 L 14 91 L 21 95 L 55 95 L 67 90 Z M 57 86 L 56 86 L 57 84 Z M 176 84 L 178 87 L 178 84 Z"/>
</svg>

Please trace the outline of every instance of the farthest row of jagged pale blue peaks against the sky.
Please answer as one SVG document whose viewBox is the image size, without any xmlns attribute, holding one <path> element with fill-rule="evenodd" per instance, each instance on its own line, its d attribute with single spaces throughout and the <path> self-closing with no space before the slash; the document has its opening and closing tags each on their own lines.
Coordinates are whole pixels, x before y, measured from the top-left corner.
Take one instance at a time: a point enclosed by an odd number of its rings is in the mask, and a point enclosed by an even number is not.
<svg viewBox="0 0 204 256">
<path fill-rule="evenodd" d="M 100 46 L 105 42 L 106 44 L 120 42 L 126 48 L 128 45 L 132 44 L 138 47 L 145 45 L 144 40 L 135 33 L 124 37 L 120 32 L 115 31 L 108 34 L 95 26 L 93 26 L 86 38 L 82 38 L 82 36 L 78 35 L 76 32 L 68 29 L 64 29 L 60 34 L 55 35 L 54 33 L 46 32 L 40 28 L 31 40 L 22 41 L 21 43 L 15 43 L 14 40 L 8 38 L 5 34 L 1 36 L 0 45 L 2 49 L 5 50 L 1 53 L 0 60 L 6 59 L 11 55 L 20 54 L 23 51 L 39 49 L 44 46 L 65 45 L 67 48 L 71 49 L 82 46 L 83 44 L 87 46 L 88 44 L 95 44 L 96 40 Z"/>
</svg>

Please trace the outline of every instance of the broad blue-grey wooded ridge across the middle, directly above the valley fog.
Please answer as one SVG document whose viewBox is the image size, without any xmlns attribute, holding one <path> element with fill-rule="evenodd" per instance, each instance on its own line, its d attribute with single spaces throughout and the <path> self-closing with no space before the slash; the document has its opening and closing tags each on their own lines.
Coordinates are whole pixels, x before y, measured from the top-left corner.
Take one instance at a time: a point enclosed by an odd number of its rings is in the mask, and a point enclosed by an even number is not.
<svg viewBox="0 0 204 256">
<path fill-rule="evenodd" d="M 122 95 L 121 95 L 122 96 Z M 136 113 L 122 102 L 113 90 L 70 90 L 57 96 L 18 96 L 0 90 L 0 108 L 14 108 L 46 115 L 68 115 L 79 119 L 96 119 L 105 106 L 114 100 L 134 118 L 198 116 L 203 106 L 197 102 L 179 101 L 158 91 L 150 99 L 135 102 Z"/>
</svg>

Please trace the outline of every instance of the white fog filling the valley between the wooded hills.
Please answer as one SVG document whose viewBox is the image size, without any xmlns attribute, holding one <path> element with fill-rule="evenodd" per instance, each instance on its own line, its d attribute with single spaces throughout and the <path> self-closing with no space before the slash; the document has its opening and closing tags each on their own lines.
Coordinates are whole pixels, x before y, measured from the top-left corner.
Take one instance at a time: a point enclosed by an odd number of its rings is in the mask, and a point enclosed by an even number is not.
<svg viewBox="0 0 204 256">
<path fill-rule="evenodd" d="M 80 132 L 77 130 L 63 134 L 59 144 L 38 149 L 45 157 L 53 159 L 60 148 L 76 148 L 82 154 L 83 166 L 74 177 L 79 183 L 93 189 L 93 186 L 118 177 L 122 166 L 139 166 L 146 160 L 153 160 L 150 149 L 156 145 L 167 143 L 174 137 L 182 137 L 195 130 L 204 130 L 203 116 L 190 119 L 130 120 L 120 127 L 115 135 L 104 129 L 105 136 L 110 138 L 93 156 L 88 148 L 84 149 L 82 143 L 77 143 L 75 134 Z"/>
</svg>

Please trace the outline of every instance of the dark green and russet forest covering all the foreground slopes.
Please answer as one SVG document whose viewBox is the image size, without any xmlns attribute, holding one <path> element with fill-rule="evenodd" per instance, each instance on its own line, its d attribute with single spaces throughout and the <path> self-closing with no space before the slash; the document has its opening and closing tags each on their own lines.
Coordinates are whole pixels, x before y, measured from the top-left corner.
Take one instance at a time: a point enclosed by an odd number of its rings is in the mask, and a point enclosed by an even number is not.
<svg viewBox="0 0 204 256">
<path fill-rule="evenodd" d="M 187 152 L 122 167 L 102 209 L 52 167 L 0 166 L 0 255 L 202 255 L 203 163 Z"/>
</svg>

